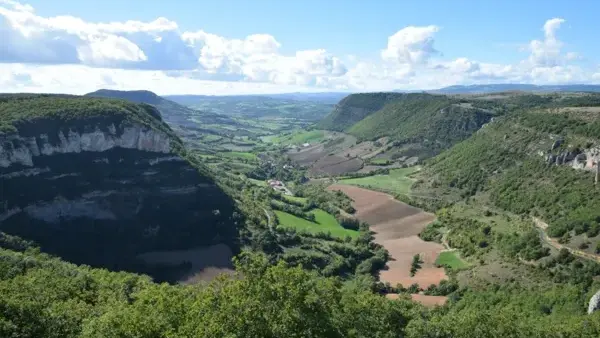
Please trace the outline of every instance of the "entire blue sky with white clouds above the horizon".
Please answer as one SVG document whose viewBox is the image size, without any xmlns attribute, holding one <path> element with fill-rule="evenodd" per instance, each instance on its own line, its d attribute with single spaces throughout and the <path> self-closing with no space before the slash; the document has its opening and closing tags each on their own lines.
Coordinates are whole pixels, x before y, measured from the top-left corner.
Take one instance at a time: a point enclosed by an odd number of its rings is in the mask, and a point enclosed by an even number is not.
<svg viewBox="0 0 600 338">
<path fill-rule="evenodd" d="M 596 0 L 0 0 L 0 92 L 600 84 Z"/>
</svg>

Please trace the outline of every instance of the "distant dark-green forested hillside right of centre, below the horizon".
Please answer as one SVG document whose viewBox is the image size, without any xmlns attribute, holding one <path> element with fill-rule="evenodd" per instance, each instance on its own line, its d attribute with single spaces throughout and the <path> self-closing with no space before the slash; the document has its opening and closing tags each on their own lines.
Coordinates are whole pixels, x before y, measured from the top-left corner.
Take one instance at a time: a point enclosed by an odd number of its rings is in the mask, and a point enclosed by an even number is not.
<svg viewBox="0 0 600 338">
<path fill-rule="evenodd" d="M 502 114 L 495 105 L 479 104 L 424 93 L 352 94 L 340 101 L 317 127 L 344 131 L 359 141 L 386 137 L 398 149 L 395 156 L 427 158 L 468 138 Z"/>
</svg>

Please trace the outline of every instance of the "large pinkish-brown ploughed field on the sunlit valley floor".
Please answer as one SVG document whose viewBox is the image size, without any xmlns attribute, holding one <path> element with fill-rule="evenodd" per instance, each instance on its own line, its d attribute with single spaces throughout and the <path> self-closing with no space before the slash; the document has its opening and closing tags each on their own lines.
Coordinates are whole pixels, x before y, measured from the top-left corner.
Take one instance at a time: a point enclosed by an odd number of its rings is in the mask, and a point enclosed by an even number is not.
<svg viewBox="0 0 600 338">
<path fill-rule="evenodd" d="M 400 283 L 404 287 L 418 283 L 421 288 L 427 288 L 447 279 L 444 269 L 435 266 L 443 245 L 425 242 L 418 236 L 435 219 L 433 214 L 381 192 L 343 184 L 334 184 L 328 189 L 341 190 L 354 200 L 355 216 L 369 223 L 375 232 L 375 242 L 389 251 L 391 260 L 387 264 L 388 269 L 380 273 L 381 281 L 393 286 Z M 423 264 L 411 277 L 411 262 L 416 254 L 421 255 Z"/>
</svg>

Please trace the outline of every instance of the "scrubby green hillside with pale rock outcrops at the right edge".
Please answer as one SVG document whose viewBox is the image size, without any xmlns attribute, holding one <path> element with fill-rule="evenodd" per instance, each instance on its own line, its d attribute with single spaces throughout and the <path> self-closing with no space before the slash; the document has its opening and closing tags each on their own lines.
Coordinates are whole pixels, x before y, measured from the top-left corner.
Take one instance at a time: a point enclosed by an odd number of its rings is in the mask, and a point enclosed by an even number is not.
<svg viewBox="0 0 600 338">
<path fill-rule="evenodd" d="M 545 220 L 550 236 L 587 234 L 574 243 L 593 252 L 600 232 L 598 100 L 550 95 L 531 107 L 512 100 L 507 116 L 432 159 L 421 188 L 489 194 L 496 207 Z"/>
</svg>

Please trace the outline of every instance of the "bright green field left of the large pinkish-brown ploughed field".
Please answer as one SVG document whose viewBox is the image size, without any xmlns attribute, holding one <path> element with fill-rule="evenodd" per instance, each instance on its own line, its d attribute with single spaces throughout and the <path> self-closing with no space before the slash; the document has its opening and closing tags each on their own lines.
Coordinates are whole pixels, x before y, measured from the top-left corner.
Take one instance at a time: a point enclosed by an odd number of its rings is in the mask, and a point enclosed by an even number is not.
<svg viewBox="0 0 600 338">
<path fill-rule="evenodd" d="M 311 213 L 315 215 L 315 222 L 307 221 L 287 212 L 275 210 L 279 224 L 282 227 L 295 228 L 298 231 L 310 233 L 330 232 L 332 236 L 340 238 L 345 238 L 346 236 L 352 238 L 358 237 L 358 231 L 344 229 L 333 215 L 321 209 L 315 209 Z"/>
</svg>

